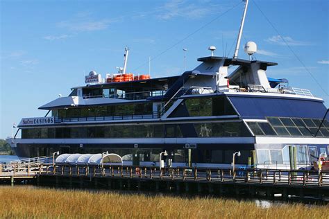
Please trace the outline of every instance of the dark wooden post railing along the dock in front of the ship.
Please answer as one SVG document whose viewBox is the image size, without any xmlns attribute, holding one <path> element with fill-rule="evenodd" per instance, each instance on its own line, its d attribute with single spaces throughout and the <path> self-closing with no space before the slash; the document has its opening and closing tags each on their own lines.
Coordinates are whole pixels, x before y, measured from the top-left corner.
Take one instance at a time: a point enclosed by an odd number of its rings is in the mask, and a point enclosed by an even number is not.
<svg viewBox="0 0 329 219">
<path fill-rule="evenodd" d="M 329 171 L 262 168 L 199 168 L 159 166 L 78 166 L 56 165 L 41 175 L 78 177 L 120 177 L 126 179 L 174 180 L 183 182 L 228 182 L 329 187 Z"/>
</svg>

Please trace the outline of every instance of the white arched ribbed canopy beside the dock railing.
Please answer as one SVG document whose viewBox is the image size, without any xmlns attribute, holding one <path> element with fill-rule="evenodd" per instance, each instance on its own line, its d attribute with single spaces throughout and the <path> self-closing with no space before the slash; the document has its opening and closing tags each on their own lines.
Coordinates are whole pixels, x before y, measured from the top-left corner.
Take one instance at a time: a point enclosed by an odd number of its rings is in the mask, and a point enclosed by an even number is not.
<svg viewBox="0 0 329 219">
<path fill-rule="evenodd" d="M 62 154 L 56 158 L 57 165 L 121 165 L 122 158 L 117 154 Z"/>
</svg>

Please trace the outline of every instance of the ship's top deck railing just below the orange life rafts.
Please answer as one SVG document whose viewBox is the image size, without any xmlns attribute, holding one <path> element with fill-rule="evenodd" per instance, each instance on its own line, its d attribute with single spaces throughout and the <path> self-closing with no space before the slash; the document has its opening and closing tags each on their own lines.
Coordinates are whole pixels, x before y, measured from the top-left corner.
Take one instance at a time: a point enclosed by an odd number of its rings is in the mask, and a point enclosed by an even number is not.
<svg viewBox="0 0 329 219">
<path fill-rule="evenodd" d="M 140 92 L 122 92 L 121 94 L 108 94 L 108 95 L 84 95 L 83 98 L 115 98 L 126 100 L 144 100 L 153 96 L 163 96 L 166 94 L 165 90 L 160 91 L 140 91 Z"/>
</svg>

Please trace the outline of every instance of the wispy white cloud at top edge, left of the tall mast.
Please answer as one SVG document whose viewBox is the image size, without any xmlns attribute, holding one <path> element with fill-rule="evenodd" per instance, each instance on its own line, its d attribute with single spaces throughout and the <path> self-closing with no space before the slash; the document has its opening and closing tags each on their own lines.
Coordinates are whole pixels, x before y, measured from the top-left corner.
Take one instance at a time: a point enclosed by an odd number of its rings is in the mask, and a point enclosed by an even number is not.
<svg viewBox="0 0 329 219">
<path fill-rule="evenodd" d="M 197 19 L 208 14 L 212 7 L 196 6 L 194 3 L 187 4 L 183 0 L 172 0 L 160 8 L 158 19 L 168 20 L 174 17 Z"/>
</svg>

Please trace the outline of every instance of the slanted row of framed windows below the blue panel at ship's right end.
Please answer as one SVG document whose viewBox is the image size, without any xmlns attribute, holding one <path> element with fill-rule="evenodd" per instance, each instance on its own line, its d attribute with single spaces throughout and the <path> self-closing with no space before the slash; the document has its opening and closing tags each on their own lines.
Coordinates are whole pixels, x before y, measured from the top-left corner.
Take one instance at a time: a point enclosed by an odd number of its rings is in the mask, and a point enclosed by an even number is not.
<svg viewBox="0 0 329 219">
<path fill-rule="evenodd" d="M 317 137 L 329 137 L 327 120 L 324 120 L 322 125 L 321 119 L 267 117 L 267 121 L 269 123 L 248 122 L 248 126 L 255 135 L 313 137 L 317 134 Z"/>
</svg>

